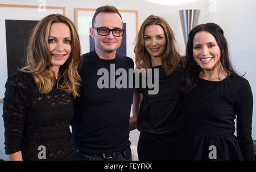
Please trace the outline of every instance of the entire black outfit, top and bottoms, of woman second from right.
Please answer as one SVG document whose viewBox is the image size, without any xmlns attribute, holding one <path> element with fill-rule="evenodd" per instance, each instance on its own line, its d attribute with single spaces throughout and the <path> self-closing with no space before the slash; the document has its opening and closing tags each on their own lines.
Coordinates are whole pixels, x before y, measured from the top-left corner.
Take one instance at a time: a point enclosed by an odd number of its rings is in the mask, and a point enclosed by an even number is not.
<svg viewBox="0 0 256 172">
<path fill-rule="evenodd" d="M 138 156 L 140 161 L 173 161 L 177 158 L 184 124 L 184 93 L 180 90 L 183 67 L 178 67 L 169 76 L 162 66 L 151 69 L 152 80 L 155 70 L 159 70 L 159 91 L 149 94 L 150 89 L 142 88 L 142 84 L 137 89 L 143 94 L 137 123 L 137 129 L 141 131 Z"/>
</svg>

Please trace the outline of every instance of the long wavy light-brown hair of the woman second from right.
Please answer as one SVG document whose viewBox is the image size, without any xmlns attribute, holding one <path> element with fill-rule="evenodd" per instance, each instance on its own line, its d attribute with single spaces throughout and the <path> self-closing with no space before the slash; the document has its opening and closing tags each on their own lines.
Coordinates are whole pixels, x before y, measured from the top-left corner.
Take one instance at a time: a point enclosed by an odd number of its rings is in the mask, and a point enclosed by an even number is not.
<svg viewBox="0 0 256 172">
<path fill-rule="evenodd" d="M 166 37 L 166 46 L 162 52 L 162 66 L 166 75 L 172 74 L 179 65 L 180 54 L 177 51 L 176 40 L 174 37 L 174 32 L 172 31 L 168 22 L 160 17 L 155 15 L 150 15 L 146 20 L 143 21 L 141 28 L 136 39 L 136 44 L 134 48 L 135 53 L 135 63 L 137 68 L 140 70 L 142 68 L 150 68 L 151 66 L 151 56 L 147 52 L 144 46 L 144 31 L 148 25 L 160 25 L 163 28 L 164 36 Z"/>
</svg>

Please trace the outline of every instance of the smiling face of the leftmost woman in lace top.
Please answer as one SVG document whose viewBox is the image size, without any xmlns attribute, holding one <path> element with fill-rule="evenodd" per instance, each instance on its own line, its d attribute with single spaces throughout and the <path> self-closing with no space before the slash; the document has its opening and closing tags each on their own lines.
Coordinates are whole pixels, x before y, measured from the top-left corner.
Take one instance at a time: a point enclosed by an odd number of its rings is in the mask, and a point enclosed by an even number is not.
<svg viewBox="0 0 256 172">
<path fill-rule="evenodd" d="M 71 54 L 71 32 L 65 23 L 53 23 L 49 31 L 49 50 L 51 52 L 51 68 L 58 71 Z"/>
</svg>

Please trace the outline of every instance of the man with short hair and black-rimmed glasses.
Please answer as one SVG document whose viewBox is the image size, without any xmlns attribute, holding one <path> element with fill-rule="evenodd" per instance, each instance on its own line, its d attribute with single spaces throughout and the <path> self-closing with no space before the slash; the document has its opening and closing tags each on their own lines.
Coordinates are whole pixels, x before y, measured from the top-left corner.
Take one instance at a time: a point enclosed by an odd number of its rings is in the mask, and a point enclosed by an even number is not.
<svg viewBox="0 0 256 172">
<path fill-rule="evenodd" d="M 115 87 L 121 69 L 133 60 L 116 53 L 121 45 L 122 17 L 117 8 L 97 8 L 90 34 L 95 50 L 82 55 L 81 92 L 75 100 L 72 131 L 81 160 L 131 160 L 129 117 L 133 88 Z M 123 82 L 129 82 L 128 75 Z M 102 87 L 103 85 L 103 87 Z"/>
</svg>

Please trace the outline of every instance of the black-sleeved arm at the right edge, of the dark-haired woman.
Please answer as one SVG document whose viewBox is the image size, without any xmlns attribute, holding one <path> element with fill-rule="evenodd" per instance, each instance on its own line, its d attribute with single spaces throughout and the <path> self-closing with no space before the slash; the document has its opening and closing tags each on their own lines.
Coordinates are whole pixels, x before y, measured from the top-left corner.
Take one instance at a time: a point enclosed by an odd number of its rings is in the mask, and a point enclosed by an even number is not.
<svg viewBox="0 0 256 172">
<path fill-rule="evenodd" d="M 253 115 L 253 94 L 248 81 L 244 83 L 236 96 L 237 139 L 243 158 L 254 161 L 253 139 L 251 137 L 251 123 Z"/>
</svg>

